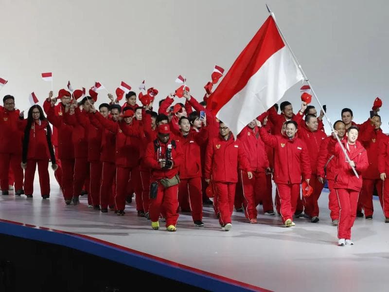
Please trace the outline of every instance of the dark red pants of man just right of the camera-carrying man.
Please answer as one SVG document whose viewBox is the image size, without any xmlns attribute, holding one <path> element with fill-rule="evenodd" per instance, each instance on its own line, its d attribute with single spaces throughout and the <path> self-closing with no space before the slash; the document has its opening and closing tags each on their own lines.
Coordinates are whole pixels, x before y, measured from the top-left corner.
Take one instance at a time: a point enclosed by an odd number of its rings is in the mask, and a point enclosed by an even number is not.
<svg viewBox="0 0 389 292">
<path fill-rule="evenodd" d="M 203 219 L 203 198 L 201 178 L 180 179 L 178 185 L 178 203 L 181 210 L 191 210 L 192 219 Z"/>
</svg>

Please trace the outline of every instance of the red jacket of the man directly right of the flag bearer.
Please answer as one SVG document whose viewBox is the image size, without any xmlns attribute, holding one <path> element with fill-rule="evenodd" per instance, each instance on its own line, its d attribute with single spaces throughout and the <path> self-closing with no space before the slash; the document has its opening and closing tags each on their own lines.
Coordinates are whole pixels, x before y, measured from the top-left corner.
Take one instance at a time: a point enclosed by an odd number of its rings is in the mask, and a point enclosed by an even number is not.
<svg viewBox="0 0 389 292">
<path fill-rule="evenodd" d="M 358 141 L 366 149 L 368 154 L 369 167 L 362 173 L 364 179 L 379 180 L 378 172 L 378 146 L 381 140 L 385 139 L 386 135 L 381 129 L 374 130 L 373 126 L 365 127 L 361 135 L 358 136 Z"/>
</svg>

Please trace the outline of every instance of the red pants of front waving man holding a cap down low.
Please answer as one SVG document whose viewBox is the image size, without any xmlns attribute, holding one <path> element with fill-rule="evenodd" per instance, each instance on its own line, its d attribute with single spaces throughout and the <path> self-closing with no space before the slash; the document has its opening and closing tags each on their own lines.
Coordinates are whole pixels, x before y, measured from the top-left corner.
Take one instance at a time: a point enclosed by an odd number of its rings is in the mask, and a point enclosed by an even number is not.
<svg viewBox="0 0 389 292">
<path fill-rule="evenodd" d="M 300 183 L 277 183 L 276 185 L 280 195 L 280 213 L 283 222 L 287 219 L 293 220 L 297 199 L 300 196 Z"/>
</svg>

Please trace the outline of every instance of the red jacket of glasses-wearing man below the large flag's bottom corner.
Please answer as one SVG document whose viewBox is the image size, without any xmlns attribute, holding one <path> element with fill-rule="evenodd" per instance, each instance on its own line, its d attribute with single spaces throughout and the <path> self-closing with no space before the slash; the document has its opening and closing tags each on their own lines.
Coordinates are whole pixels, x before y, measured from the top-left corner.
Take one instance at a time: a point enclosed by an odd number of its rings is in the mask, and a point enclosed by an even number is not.
<svg viewBox="0 0 389 292">
<path fill-rule="evenodd" d="M 220 134 L 209 141 L 205 156 L 205 179 L 214 183 L 237 183 L 238 168 L 250 171 L 250 163 L 242 143 L 230 137 L 225 140 Z"/>
</svg>

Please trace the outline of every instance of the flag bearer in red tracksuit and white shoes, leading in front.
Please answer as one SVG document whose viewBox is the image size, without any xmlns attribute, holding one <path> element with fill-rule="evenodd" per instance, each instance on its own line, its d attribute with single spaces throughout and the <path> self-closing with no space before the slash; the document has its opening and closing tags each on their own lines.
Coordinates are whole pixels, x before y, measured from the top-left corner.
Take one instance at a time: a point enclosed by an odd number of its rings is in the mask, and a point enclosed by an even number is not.
<svg viewBox="0 0 389 292">
<path fill-rule="evenodd" d="M 328 145 L 328 151 L 335 155 L 337 161 L 334 189 L 340 208 L 337 227 L 339 246 L 354 244 L 351 241 L 351 227 L 353 227 L 355 221 L 356 205 L 362 188 L 361 173 L 369 166 L 366 149 L 361 143 L 356 141 L 358 139 L 358 131 L 358 127 L 351 126 L 346 132 L 347 140 L 342 140 L 341 142 L 347 151 L 350 162 L 347 162 L 345 153 L 336 141 L 336 130 L 333 130 L 334 139 Z M 352 167 L 355 168 L 359 178 L 354 174 Z"/>
</svg>

